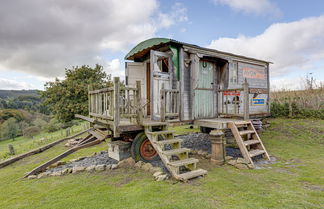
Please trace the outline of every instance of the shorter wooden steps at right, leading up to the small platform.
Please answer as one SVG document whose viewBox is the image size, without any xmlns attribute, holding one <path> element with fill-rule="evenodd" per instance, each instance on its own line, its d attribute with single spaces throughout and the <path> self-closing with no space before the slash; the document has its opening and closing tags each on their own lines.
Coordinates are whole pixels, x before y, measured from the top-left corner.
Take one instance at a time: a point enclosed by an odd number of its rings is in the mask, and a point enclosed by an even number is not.
<svg viewBox="0 0 324 209">
<path fill-rule="evenodd" d="M 231 129 L 244 159 L 253 166 L 253 157 L 261 155 L 263 158 L 270 160 L 269 154 L 251 121 L 229 122 L 228 127 Z"/>
</svg>

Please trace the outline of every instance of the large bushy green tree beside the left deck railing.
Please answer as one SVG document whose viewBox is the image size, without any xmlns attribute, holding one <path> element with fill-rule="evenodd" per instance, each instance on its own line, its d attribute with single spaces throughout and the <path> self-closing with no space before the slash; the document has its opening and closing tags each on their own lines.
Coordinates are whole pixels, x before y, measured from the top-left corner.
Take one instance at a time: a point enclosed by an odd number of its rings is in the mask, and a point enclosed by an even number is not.
<svg viewBox="0 0 324 209">
<path fill-rule="evenodd" d="M 57 119 L 68 122 L 75 114 L 88 114 L 88 86 L 103 88 L 111 84 L 103 67 L 83 65 L 65 70 L 65 80 L 56 79 L 45 84 L 44 103 Z"/>
</svg>

